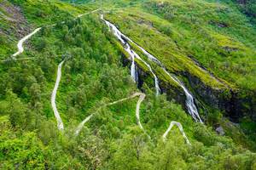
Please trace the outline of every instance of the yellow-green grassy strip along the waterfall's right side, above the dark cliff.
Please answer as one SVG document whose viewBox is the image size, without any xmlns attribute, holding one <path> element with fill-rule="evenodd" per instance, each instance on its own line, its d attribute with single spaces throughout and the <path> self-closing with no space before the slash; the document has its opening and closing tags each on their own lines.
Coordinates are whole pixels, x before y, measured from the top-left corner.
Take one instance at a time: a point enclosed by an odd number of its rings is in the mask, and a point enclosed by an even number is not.
<svg viewBox="0 0 256 170">
<path fill-rule="evenodd" d="M 148 26 L 147 23 L 154 23 L 149 17 L 147 18 L 149 14 L 141 12 L 131 14 L 132 11 L 135 11 L 135 9 L 126 9 L 126 13 L 122 11 L 118 14 L 109 14 L 107 15 L 107 19 L 119 26 L 120 30 L 128 37 L 131 37 L 133 41 L 137 42 L 140 46 L 148 50 L 149 53 L 154 54 L 154 56 L 160 59 L 168 71 L 174 73 L 188 71 L 190 74 L 195 75 L 195 77 L 199 77 L 202 82 L 205 82 L 212 88 L 224 88 L 221 83 L 217 82 L 204 71 L 201 71 L 191 59 L 180 52 L 170 37 L 161 34 L 160 31 L 153 26 Z M 151 19 L 152 18 L 157 20 L 154 16 L 151 16 Z M 125 22 L 121 20 L 125 20 Z M 141 24 L 138 22 L 144 23 Z"/>
</svg>

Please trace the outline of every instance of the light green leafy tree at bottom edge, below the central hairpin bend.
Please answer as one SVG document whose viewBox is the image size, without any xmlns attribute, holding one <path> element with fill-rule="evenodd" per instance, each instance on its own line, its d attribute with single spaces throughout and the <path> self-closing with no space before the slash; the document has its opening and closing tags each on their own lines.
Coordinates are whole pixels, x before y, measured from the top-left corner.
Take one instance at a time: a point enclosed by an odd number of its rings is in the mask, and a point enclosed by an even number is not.
<svg viewBox="0 0 256 170">
<path fill-rule="evenodd" d="M 138 127 L 112 144 L 113 156 L 108 169 L 153 169 L 153 157 L 148 148 L 148 137 Z"/>
</svg>

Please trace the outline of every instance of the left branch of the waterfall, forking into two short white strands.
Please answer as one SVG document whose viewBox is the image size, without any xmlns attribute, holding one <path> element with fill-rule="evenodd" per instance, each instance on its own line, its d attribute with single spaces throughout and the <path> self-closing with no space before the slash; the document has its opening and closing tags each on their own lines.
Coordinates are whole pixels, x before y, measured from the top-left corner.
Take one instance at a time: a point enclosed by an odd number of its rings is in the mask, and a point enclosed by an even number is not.
<svg viewBox="0 0 256 170">
<path fill-rule="evenodd" d="M 156 75 L 154 74 L 154 71 L 152 70 L 151 66 L 148 65 L 147 62 L 145 62 L 135 51 L 133 51 L 131 49 L 130 44 L 127 42 L 127 40 L 130 41 L 129 38 L 125 37 L 125 35 L 122 34 L 121 31 L 119 31 L 119 29 L 116 26 L 114 26 L 113 24 L 108 22 L 108 20 L 104 20 L 103 14 L 101 15 L 101 19 L 113 31 L 113 35 L 119 39 L 119 41 L 125 47 L 125 51 L 131 56 L 131 77 L 132 77 L 132 79 L 135 82 L 138 81 L 137 66 L 135 65 L 135 59 L 137 58 L 137 59 L 140 59 L 141 61 L 143 61 L 143 63 L 148 67 L 148 70 L 154 76 L 154 87 L 155 87 L 156 95 L 159 95 L 160 94 L 159 81 L 158 81 L 158 78 L 156 77 Z"/>
</svg>

